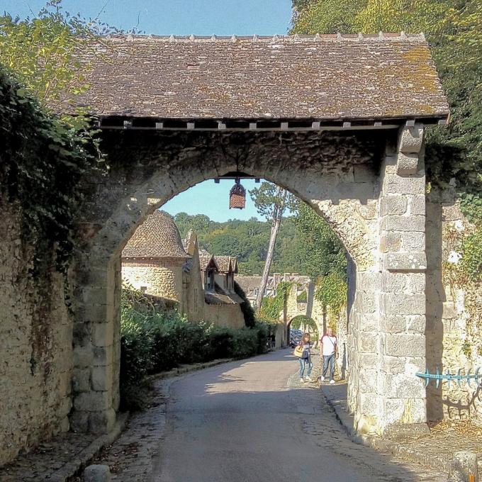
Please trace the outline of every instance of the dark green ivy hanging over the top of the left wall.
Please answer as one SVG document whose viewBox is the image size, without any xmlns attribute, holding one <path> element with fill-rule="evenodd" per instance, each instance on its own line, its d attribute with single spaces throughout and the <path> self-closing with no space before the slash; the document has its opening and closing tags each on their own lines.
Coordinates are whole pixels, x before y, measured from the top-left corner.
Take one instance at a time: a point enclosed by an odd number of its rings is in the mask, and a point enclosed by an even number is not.
<svg viewBox="0 0 482 482">
<path fill-rule="evenodd" d="M 47 113 L 0 65 L 0 203 L 18 206 L 33 276 L 67 267 L 80 181 L 101 160 L 87 130 Z M 52 253 L 48 256 L 47 253 Z"/>
</svg>

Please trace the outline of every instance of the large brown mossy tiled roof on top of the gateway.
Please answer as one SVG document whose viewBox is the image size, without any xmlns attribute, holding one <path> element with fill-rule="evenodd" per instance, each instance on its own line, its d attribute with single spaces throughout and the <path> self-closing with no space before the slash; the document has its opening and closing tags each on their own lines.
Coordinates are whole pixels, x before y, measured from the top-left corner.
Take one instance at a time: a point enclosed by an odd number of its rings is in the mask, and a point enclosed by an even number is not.
<svg viewBox="0 0 482 482">
<path fill-rule="evenodd" d="M 103 38 L 77 54 L 99 116 L 446 118 L 423 35 Z M 66 108 L 69 108 L 66 105 Z"/>
</svg>

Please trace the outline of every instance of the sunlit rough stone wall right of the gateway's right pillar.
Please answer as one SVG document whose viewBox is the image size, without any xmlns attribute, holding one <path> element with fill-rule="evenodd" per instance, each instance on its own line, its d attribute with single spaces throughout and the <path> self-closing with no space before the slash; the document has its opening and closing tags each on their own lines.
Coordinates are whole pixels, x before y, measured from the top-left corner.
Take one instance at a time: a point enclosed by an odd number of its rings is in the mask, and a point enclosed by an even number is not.
<svg viewBox="0 0 482 482">
<path fill-rule="evenodd" d="M 459 271 L 461 240 L 472 226 L 452 189 L 427 195 L 427 368 L 462 374 L 482 366 L 482 291 Z M 442 255 L 441 255 L 442 254 Z M 472 418 L 482 424 L 482 397 L 472 383 L 433 381 L 427 386 L 427 417 Z"/>
</svg>

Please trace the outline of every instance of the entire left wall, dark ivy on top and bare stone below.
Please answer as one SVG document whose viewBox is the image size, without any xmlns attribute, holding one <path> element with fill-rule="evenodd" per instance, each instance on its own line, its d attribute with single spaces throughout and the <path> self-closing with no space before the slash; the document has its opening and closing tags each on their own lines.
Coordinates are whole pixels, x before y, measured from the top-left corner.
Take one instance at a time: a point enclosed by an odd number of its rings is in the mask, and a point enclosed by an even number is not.
<svg viewBox="0 0 482 482">
<path fill-rule="evenodd" d="M 0 465 L 69 429 L 67 271 L 95 147 L 0 68 Z"/>
</svg>

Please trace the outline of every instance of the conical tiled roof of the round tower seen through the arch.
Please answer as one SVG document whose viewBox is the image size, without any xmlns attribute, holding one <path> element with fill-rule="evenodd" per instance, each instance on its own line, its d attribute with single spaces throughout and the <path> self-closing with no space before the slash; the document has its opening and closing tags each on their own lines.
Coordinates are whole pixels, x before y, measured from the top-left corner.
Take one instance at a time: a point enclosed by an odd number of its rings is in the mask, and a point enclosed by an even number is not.
<svg viewBox="0 0 482 482">
<path fill-rule="evenodd" d="M 187 258 L 174 219 L 164 211 L 155 211 L 134 232 L 122 257 Z"/>
</svg>

